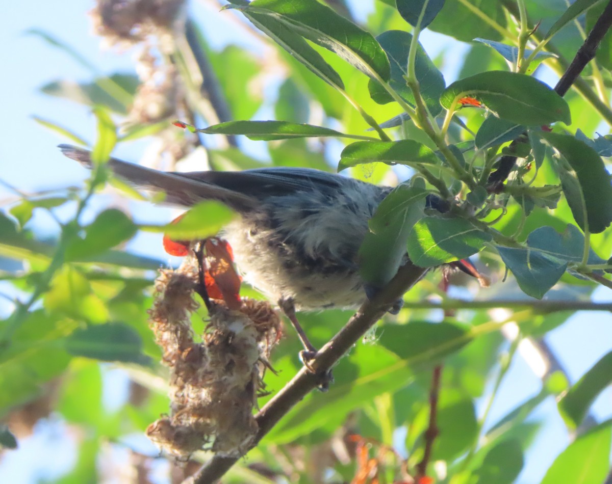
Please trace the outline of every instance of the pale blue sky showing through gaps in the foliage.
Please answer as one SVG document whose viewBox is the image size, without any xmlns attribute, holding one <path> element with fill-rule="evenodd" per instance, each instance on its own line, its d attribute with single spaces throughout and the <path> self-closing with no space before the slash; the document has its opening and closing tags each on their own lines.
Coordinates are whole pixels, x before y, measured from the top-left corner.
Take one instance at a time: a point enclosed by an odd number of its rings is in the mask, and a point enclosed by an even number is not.
<svg viewBox="0 0 612 484">
<path fill-rule="evenodd" d="M 362 2 L 362 0 L 360 0 Z M 370 2 L 362 2 L 360 14 L 367 10 Z M 234 15 L 230 12 L 220 14 L 216 10 L 197 3 L 193 6 L 196 18 L 201 21 L 204 31 L 213 39 L 213 46 L 245 39 L 234 39 L 235 31 L 222 17 Z M 58 78 L 86 81 L 91 72 L 76 64 L 62 51 L 52 48 L 35 35 L 27 34 L 28 29 L 41 29 L 69 43 L 91 60 L 100 71 L 113 73 L 130 70 L 130 54 L 118 56 L 113 51 L 100 51 L 99 39 L 91 34 L 91 24 L 86 12 L 91 9 L 90 2 L 62 0 L 61 2 L 4 2 L 3 15 L 0 16 L 0 92 L 2 96 L 2 116 L 0 117 L 0 178 L 22 191 L 35 191 L 47 188 L 60 188 L 67 185 L 80 186 L 85 174 L 83 169 L 73 161 L 65 159 L 56 149 L 58 136 L 40 127 L 32 116 L 53 120 L 65 127 L 74 129 L 86 139 L 94 138 L 94 119 L 87 108 L 69 101 L 50 98 L 39 92 L 43 84 Z M 438 35 L 427 35 L 423 39 L 424 47 L 430 54 L 435 54 L 444 41 Z M 454 73 L 447 74 L 452 80 Z M 601 134 L 606 134 L 601 132 Z M 124 145 L 119 155 L 137 160 L 141 144 Z M 0 186 L 0 200 L 6 201 L 11 194 Z M 101 209 L 108 198 L 102 197 L 96 208 Z M 92 216 L 94 211 L 89 214 Z M 167 221 L 170 211 L 165 208 L 149 208 L 139 212 L 139 216 L 149 221 L 159 219 Z M 39 216 L 35 224 L 41 232 L 50 230 L 52 225 L 44 216 Z M 146 236 L 133 243 L 132 248 L 147 255 L 156 255 L 162 260 L 168 259 L 161 251 L 160 236 Z M 610 290 L 597 291 L 597 299 L 610 301 Z M 6 312 L 6 311 L 5 311 Z M 569 323 L 551 332 L 548 341 L 557 351 L 567 367 L 572 381 L 577 380 L 597 359 L 609 350 L 612 340 L 612 315 L 610 314 L 577 314 Z M 491 420 L 502 416 L 525 398 L 539 391 L 539 380 L 533 375 L 528 365 L 521 358 L 516 358 L 512 370 L 504 381 L 494 404 Z M 112 399 L 111 399 L 112 400 Z M 607 391 L 599 398 L 596 414 L 600 419 L 610 417 L 612 391 Z M 534 418 L 542 419 L 545 426 L 534 450 L 529 455 L 526 469 L 520 482 L 539 482 L 543 472 L 553 458 L 568 442 L 567 433 L 558 417 L 554 402 L 549 399 L 540 406 Z M 33 469 L 65 467 L 70 464 L 70 453 L 73 446 L 62 437 L 65 428 L 61 422 L 52 422 L 41 427 L 37 434 L 23 442 L 23 449 L 12 453 L 0 461 L 0 477 L 4 482 L 30 482 Z M 51 439 L 51 441 L 49 440 Z M 55 450 L 49 448 L 50 442 Z M 72 450 L 71 450 L 72 449 Z M 31 462 L 34 456 L 47 456 L 47 460 L 36 458 L 37 464 L 23 466 Z M 63 456 L 63 457 L 62 457 Z M 63 460 L 62 460 L 63 459 Z M 15 473 L 24 474 L 15 474 Z"/>
</svg>

